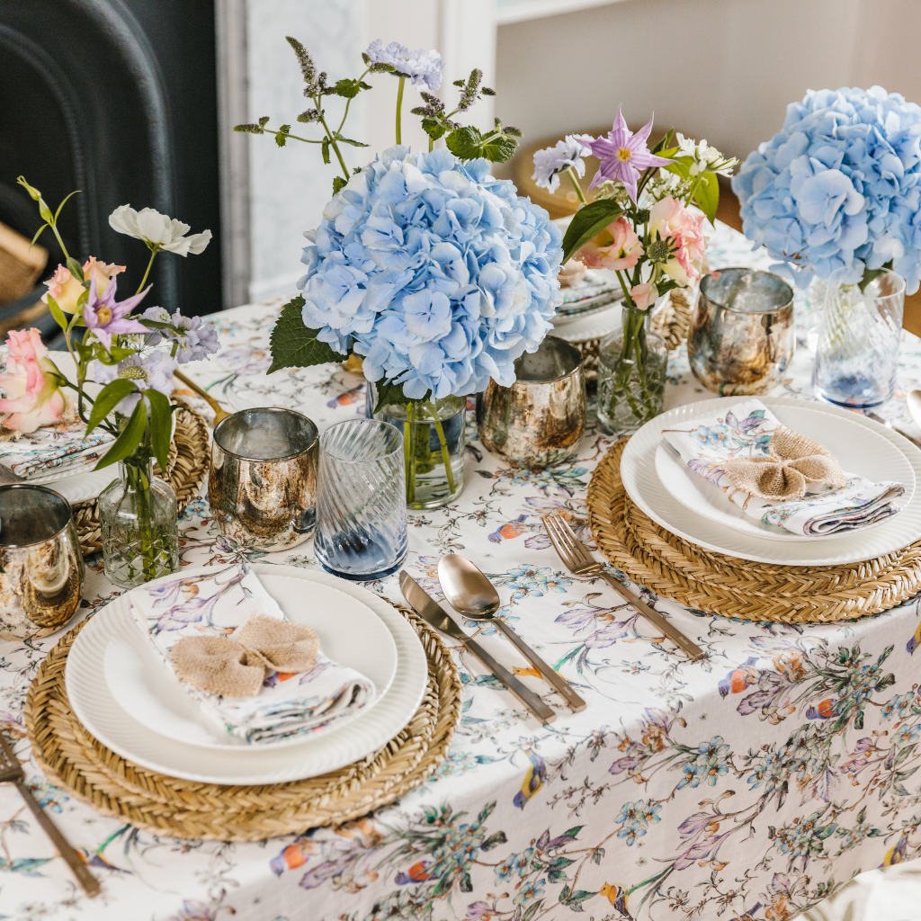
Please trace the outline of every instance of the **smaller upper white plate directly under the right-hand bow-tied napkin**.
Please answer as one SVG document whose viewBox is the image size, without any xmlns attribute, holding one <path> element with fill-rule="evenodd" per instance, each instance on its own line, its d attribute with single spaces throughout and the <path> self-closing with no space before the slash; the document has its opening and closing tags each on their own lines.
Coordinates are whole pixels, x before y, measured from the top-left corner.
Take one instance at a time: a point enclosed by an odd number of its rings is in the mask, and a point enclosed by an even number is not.
<svg viewBox="0 0 921 921">
<path fill-rule="evenodd" d="M 902 451 L 891 441 L 874 431 L 868 431 L 853 418 L 839 419 L 810 405 L 785 408 L 775 415 L 794 431 L 809 432 L 810 438 L 831 451 L 846 472 L 857 473 L 870 483 L 901 483 L 905 487 L 905 492 L 898 499 L 899 503 L 905 506 L 911 501 L 915 493 L 915 472 Z M 681 427 L 696 426 L 703 418 L 704 416 L 698 416 Z M 853 531 L 842 530 L 835 534 L 817 534 L 810 537 L 808 534 L 794 534 L 792 530 L 781 528 L 779 525 L 764 524 L 758 519 L 753 519 L 731 502 L 717 484 L 690 470 L 678 452 L 672 449 L 664 438 L 660 439 L 659 448 L 656 449 L 656 472 L 662 485 L 682 506 L 749 537 L 787 543 L 815 543 L 840 541 L 854 534 Z M 876 524 L 862 528 L 860 533 L 866 534 L 871 528 L 880 528 L 888 520 L 882 519 Z"/>
</svg>

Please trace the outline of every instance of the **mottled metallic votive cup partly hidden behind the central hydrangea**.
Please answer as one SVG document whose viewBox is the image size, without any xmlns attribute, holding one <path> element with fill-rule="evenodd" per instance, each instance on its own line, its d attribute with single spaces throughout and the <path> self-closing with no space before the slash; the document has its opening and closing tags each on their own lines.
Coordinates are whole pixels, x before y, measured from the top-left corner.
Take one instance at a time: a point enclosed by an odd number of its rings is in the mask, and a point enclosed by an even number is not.
<svg viewBox="0 0 921 921">
<path fill-rule="evenodd" d="M 516 381 L 490 380 L 476 397 L 476 427 L 486 450 L 515 467 L 540 470 L 571 461 L 585 431 L 585 367 L 575 345 L 547 336 L 515 362 Z"/>
</svg>

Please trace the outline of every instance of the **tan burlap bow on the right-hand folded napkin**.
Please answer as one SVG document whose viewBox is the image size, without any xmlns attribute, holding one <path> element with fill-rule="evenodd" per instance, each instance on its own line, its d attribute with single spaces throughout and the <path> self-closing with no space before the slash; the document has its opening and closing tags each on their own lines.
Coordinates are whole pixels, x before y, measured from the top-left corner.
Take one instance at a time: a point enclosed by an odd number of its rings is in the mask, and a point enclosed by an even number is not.
<svg viewBox="0 0 921 921">
<path fill-rule="evenodd" d="M 720 467 L 734 485 L 772 502 L 801 499 L 807 484 L 845 484 L 838 461 L 805 435 L 778 426 L 767 449 L 770 457 L 734 458 Z"/>
</svg>

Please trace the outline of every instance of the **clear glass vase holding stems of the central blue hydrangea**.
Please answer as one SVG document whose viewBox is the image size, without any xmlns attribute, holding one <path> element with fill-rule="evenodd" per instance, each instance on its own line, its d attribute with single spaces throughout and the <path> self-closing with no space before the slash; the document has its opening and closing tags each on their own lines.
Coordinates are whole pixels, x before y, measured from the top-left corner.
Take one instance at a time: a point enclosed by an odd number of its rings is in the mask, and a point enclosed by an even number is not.
<svg viewBox="0 0 921 921">
<path fill-rule="evenodd" d="M 368 407 L 376 407 L 377 400 L 378 390 L 368 381 Z M 391 403 L 374 414 L 402 432 L 406 507 L 438 508 L 461 495 L 466 409 L 466 397 L 447 396 L 431 402 Z"/>
</svg>

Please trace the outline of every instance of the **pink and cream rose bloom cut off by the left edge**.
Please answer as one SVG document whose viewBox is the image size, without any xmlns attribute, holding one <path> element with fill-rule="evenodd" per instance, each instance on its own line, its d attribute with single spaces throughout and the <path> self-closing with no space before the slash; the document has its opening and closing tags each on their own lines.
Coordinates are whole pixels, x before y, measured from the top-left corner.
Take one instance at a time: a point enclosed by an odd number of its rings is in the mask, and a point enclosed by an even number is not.
<svg viewBox="0 0 921 921">
<path fill-rule="evenodd" d="M 61 372 L 48 357 L 39 331 L 11 330 L 6 345 L 6 374 L 0 374 L 6 400 L 0 400 L 0 413 L 12 415 L 3 426 L 28 434 L 64 421 L 67 402 L 57 377 Z"/>
</svg>

